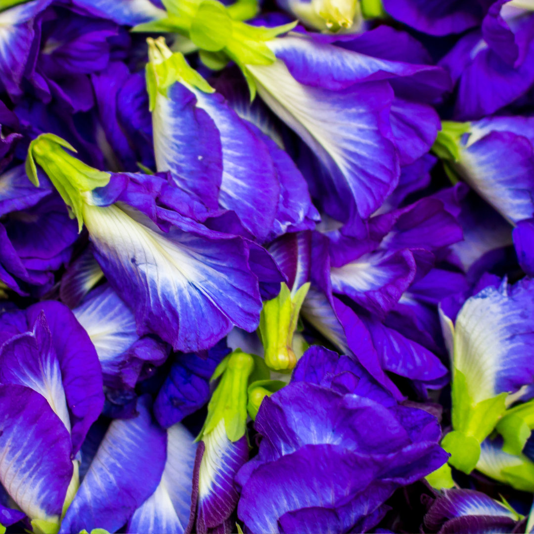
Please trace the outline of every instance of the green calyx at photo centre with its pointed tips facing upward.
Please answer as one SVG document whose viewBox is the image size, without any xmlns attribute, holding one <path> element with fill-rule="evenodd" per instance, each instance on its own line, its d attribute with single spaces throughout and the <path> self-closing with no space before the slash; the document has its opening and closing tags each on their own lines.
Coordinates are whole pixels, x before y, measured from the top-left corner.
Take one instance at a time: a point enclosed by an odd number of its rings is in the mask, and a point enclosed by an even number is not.
<svg viewBox="0 0 534 534">
<path fill-rule="evenodd" d="M 306 282 L 293 292 L 282 282 L 278 296 L 263 303 L 259 332 L 265 363 L 273 370 L 290 371 L 297 363 L 293 335 L 309 288 L 310 282 Z"/>
</svg>

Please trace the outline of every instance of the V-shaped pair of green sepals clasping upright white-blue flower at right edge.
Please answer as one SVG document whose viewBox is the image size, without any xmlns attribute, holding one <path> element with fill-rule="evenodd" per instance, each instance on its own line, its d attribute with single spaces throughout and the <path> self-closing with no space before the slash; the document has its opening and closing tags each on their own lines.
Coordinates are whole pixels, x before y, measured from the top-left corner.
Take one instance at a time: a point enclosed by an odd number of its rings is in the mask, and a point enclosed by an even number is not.
<svg viewBox="0 0 534 534">
<path fill-rule="evenodd" d="M 452 381 L 452 427 L 482 443 L 505 412 L 507 396 L 506 392 L 502 392 L 473 404 L 466 377 L 455 367 Z"/>
</svg>

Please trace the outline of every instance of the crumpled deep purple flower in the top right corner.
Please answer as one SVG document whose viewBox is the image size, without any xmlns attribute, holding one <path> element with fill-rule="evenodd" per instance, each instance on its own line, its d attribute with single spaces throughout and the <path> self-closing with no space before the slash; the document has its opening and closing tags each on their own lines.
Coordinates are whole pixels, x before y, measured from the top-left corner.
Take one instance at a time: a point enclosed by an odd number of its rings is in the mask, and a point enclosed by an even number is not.
<svg viewBox="0 0 534 534">
<path fill-rule="evenodd" d="M 476 120 L 522 97 L 534 82 L 534 10 L 524 2 L 492 3 L 480 29 L 462 36 L 439 62 L 458 86 L 454 119 Z"/>
</svg>

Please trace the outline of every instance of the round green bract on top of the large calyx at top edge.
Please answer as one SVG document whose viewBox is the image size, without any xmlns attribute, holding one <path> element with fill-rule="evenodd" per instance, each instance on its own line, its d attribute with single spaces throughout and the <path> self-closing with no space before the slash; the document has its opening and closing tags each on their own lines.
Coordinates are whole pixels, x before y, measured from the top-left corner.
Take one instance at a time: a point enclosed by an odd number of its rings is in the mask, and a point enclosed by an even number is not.
<svg viewBox="0 0 534 534">
<path fill-rule="evenodd" d="M 203 0 L 191 27 L 189 38 L 201 50 L 218 52 L 232 35 L 232 19 L 226 7 L 217 0 Z"/>
</svg>

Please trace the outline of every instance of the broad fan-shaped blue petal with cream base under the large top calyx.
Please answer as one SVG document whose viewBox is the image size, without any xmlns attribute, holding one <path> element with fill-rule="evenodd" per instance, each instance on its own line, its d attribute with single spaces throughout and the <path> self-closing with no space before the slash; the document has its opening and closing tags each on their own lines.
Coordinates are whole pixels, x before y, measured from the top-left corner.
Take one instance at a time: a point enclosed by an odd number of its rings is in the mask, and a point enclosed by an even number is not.
<svg viewBox="0 0 534 534">
<path fill-rule="evenodd" d="M 348 218 L 355 205 L 362 217 L 371 215 L 399 175 L 389 125 L 389 84 L 331 91 L 297 82 L 281 61 L 248 68 L 265 103 L 301 136 L 331 175 L 320 185 L 328 194 L 319 199 L 325 209 L 335 216 L 341 205 Z"/>
</svg>

